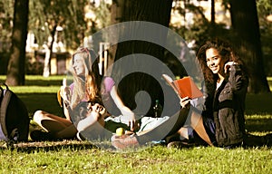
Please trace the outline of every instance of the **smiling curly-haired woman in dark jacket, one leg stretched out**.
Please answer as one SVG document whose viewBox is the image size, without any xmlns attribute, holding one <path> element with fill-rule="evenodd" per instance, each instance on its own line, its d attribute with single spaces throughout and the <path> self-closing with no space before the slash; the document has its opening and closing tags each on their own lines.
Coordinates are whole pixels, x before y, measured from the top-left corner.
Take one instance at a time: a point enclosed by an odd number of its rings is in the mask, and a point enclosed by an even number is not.
<svg viewBox="0 0 272 174">
<path fill-rule="evenodd" d="M 200 137 L 210 146 L 232 148 L 242 144 L 245 132 L 245 98 L 248 91 L 248 75 L 242 61 L 226 42 L 219 39 L 206 42 L 197 53 L 200 69 L 204 74 L 202 91 L 203 98 L 190 100 L 182 98 L 179 117 L 189 113 L 189 126 L 180 122 L 176 133 L 170 132 L 166 140 L 175 137 L 189 139 Z M 186 111 L 187 110 L 187 111 Z M 187 117 L 187 115 L 185 115 Z M 164 122 L 152 131 L 159 131 L 165 126 Z M 152 132 L 151 131 L 151 132 Z M 112 137 L 112 144 L 117 149 L 123 149 L 135 144 L 144 144 L 152 137 L 151 132 L 134 137 Z M 172 142 L 169 146 L 173 145 Z"/>
</svg>

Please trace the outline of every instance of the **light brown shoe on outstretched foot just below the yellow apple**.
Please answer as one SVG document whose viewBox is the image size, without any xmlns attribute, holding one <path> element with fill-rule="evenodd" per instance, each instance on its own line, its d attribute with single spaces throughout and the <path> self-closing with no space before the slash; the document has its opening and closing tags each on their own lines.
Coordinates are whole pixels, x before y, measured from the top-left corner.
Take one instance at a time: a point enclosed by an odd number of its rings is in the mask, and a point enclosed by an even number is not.
<svg viewBox="0 0 272 174">
<path fill-rule="evenodd" d="M 112 136 L 112 146 L 117 150 L 125 150 L 131 148 L 137 148 L 140 146 L 136 136 L 133 135 L 113 135 Z"/>
</svg>

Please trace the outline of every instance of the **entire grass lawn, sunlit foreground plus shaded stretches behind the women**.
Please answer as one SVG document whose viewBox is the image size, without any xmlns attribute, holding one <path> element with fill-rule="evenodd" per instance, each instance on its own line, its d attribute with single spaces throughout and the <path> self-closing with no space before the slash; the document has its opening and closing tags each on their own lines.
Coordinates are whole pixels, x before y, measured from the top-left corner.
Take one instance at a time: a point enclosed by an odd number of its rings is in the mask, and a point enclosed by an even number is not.
<svg viewBox="0 0 272 174">
<path fill-rule="evenodd" d="M 0 82 L 5 76 L 0 76 Z M 26 76 L 25 86 L 10 87 L 34 111 L 63 115 L 56 92 L 63 76 Z M 270 87 L 272 78 L 268 78 Z M 248 94 L 246 129 L 272 132 L 272 94 Z M 34 128 L 34 124 L 30 129 Z M 2 144 L 1 144 L 2 143 Z M 0 142 L 4 145 L 4 142 Z M 222 150 L 212 147 L 167 149 L 153 146 L 135 152 L 99 149 L 88 141 L 28 142 L 0 149 L 0 173 L 272 173 L 272 148 Z"/>
</svg>

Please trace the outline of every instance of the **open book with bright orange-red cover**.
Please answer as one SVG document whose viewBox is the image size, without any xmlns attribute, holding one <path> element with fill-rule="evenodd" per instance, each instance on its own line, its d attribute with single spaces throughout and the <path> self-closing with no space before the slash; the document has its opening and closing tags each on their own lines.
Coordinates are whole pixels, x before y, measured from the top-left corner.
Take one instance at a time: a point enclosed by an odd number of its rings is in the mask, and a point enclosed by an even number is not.
<svg viewBox="0 0 272 174">
<path fill-rule="evenodd" d="M 200 92 L 196 83 L 189 76 L 175 81 L 167 74 L 162 74 L 162 77 L 177 92 L 180 98 L 189 97 L 195 99 L 203 96 L 203 93 Z"/>
</svg>

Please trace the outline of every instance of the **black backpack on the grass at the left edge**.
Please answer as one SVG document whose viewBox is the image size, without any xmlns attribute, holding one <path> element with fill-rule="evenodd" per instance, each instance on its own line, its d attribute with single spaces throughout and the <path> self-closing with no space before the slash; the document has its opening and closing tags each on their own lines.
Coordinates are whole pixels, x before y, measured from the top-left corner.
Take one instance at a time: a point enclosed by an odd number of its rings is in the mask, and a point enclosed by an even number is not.
<svg viewBox="0 0 272 174">
<path fill-rule="evenodd" d="M 28 111 L 17 95 L 0 85 L 0 140 L 27 141 L 30 119 Z"/>
</svg>

